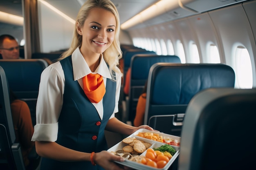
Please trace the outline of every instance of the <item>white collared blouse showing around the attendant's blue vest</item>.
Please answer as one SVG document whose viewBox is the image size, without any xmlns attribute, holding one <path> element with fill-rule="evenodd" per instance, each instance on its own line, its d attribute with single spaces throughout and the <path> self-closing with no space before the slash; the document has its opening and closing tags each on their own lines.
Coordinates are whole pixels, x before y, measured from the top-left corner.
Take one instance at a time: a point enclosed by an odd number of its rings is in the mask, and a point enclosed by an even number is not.
<svg viewBox="0 0 256 170">
<path fill-rule="evenodd" d="M 72 66 L 74 81 L 78 81 L 83 89 L 82 78 L 91 72 L 88 64 L 83 58 L 79 48 L 72 53 Z M 108 66 L 101 55 L 101 61 L 94 73 L 103 76 L 103 82 L 106 86 L 106 79 L 111 79 Z M 116 73 L 117 90 L 115 109 L 110 119 L 115 117 L 118 112 L 118 102 L 121 88 L 121 74 Z M 39 93 L 36 104 L 36 125 L 31 141 L 56 141 L 58 135 L 58 117 L 63 105 L 63 94 L 65 86 L 65 76 L 58 61 L 49 65 L 41 74 Z M 101 119 L 103 118 L 103 100 L 99 103 L 92 103 L 97 109 Z"/>
</svg>

